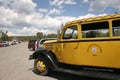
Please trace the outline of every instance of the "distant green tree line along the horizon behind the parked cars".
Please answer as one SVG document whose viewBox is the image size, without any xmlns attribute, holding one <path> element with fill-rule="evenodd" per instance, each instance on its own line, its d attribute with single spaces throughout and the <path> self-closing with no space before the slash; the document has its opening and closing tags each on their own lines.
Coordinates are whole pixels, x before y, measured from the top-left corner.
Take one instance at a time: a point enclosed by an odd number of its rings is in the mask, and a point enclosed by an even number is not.
<svg viewBox="0 0 120 80">
<path fill-rule="evenodd" d="M 29 41 L 41 38 L 57 38 L 57 34 L 53 33 L 44 35 L 42 32 L 37 32 L 35 36 L 8 36 L 7 33 L 8 31 L 6 32 L 0 31 L 0 41 L 12 41 L 12 40 Z"/>
</svg>

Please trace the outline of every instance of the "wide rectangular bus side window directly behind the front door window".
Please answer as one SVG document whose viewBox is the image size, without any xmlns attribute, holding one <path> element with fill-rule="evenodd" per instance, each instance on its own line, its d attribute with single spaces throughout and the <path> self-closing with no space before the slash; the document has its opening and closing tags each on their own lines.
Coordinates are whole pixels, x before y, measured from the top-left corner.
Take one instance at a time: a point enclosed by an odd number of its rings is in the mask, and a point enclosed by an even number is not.
<svg viewBox="0 0 120 80">
<path fill-rule="evenodd" d="M 109 37 L 109 24 L 105 22 L 96 22 L 82 24 L 82 38 Z"/>
</svg>

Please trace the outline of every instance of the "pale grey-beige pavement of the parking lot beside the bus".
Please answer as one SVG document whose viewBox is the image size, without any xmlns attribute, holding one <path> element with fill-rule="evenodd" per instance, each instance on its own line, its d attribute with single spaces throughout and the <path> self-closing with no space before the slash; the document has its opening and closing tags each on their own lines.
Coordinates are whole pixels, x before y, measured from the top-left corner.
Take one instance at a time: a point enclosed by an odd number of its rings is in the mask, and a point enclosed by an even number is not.
<svg viewBox="0 0 120 80">
<path fill-rule="evenodd" d="M 101 80 L 60 72 L 37 75 L 33 71 L 33 60 L 28 60 L 32 53 L 27 49 L 27 42 L 0 48 L 0 80 Z"/>
</svg>

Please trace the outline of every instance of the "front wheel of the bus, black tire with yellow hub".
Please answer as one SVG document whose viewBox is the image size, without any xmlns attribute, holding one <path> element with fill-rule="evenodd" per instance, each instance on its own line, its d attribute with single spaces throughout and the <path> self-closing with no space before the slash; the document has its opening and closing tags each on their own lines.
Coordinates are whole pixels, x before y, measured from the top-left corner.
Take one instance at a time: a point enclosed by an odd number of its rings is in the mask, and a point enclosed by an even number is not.
<svg viewBox="0 0 120 80">
<path fill-rule="evenodd" d="M 35 73 L 45 76 L 48 74 L 49 67 L 48 62 L 45 58 L 38 58 L 34 61 L 34 71 Z"/>
</svg>

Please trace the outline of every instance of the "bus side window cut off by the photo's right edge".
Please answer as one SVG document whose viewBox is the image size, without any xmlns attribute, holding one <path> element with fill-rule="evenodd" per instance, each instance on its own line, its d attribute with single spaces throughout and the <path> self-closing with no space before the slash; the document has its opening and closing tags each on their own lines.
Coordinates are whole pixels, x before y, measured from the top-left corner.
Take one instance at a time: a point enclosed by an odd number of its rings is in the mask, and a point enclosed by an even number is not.
<svg viewBox="0 0 120 80">
<path fill-rule="evenodd" d="M 113 36 L 120 36 L 120 20 L 112 21 Z"/>
</svg>

